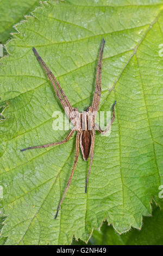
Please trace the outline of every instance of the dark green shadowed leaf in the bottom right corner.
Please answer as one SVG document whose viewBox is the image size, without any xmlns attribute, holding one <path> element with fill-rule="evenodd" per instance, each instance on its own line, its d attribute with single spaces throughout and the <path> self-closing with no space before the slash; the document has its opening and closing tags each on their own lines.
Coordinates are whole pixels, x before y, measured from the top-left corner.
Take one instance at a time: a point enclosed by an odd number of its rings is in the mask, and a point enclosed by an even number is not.
<svg viewBox="0 0 163 256">
<path fill-rule="evenodd" d="M 94 230 L 89 245 L 162 245 L 163 244 L 163 211 L 154 206 L 152 217 L 143 217 L 141 230 L 132 229 L 126 234 L 115 233 L 114 228 L 104 222 L 100 230 Z M 84 245 L 74 241 L 73 245 Z"/>
</svg>

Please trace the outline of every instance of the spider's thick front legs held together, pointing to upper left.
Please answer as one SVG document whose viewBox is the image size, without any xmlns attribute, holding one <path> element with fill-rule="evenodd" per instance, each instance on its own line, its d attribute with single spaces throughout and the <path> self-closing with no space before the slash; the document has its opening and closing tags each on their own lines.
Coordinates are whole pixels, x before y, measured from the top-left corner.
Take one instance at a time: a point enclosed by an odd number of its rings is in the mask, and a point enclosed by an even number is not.
<svg viewBox="0 0 163 256">
<path fill-rule="evenodd" d="M 61 89 L 60 84 L 58 83 L 58 81 L 56 80 L 55 76 L 53 75 L 52 71 L 48 68 L 48 66 L 46 65 L 46 63 L 43 61 L 43 59 L 39 56 L 39 53 L 37 53 L 36 49 L 33 48 L 32 49 L 37 60 L 39 60 L 42 68 L 45 70 L 49 80 L 51 81 L 51 83 L 53 84 L 53 88 L 55 90 L 55 93 L 57 94 L 63 108 L 65 109 L 66 114 L 68 115 L 68 118 L 72 121 L 72 123 L 74 124 L 74 118 L 76 117 L 76 114 L 73 110 L 73 107 L 71 106 L 70 102 L 68 101 L 66 95 L 64 94 L 64 91 Z M 57 86 L 56 86 L 57 85 Z M 58 88 L 57 88 L 58 87 Z M 58 90 L 59 89 L 59 90 Z M 60 93 L 59 93 L 60 92 Z M 68 109 L 66 108 L 68 107 Z M 71 117 L 70 117 L 70 113 L 71 113 Z"/>
</svg>

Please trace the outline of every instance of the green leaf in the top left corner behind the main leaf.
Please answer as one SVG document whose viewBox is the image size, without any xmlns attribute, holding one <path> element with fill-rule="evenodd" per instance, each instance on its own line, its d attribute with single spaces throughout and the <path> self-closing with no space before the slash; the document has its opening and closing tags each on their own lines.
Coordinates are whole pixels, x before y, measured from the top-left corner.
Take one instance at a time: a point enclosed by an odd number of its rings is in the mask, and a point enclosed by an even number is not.
<svg viewBox="0 0 163 256">
<path fill-rule="evenodd" d="M 9 38 L 10 33 L 15 33 L 14 25 L 24 19 L 23 15 L 29 14 L 36 5 L 38 0 L 0 0 L 0 43 L 4 44 Z M 10 8 L 9 8 L 10 7 Z"/>
</svg>

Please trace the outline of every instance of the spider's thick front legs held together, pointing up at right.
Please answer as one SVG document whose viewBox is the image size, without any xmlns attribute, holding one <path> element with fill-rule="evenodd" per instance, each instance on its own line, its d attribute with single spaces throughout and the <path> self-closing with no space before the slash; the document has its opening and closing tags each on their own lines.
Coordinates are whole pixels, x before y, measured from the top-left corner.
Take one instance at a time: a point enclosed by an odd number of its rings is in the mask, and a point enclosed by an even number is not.
<svg viewBox="0 0 163 256">
<path fill-rule="evenodd" d="M 101 71 L 102 71 L 102 58 L 103 58 L 103 50 L 104 50 L 105 40 L 102 40 L 101 48 L 99 50 L 99 57 L 97 63 L 97 71 L 96 71 L 96 89 L 93 96 L 92 102 L 92 112 L 98 111 L 99 101 L 101 97 Z"/>
</svg>

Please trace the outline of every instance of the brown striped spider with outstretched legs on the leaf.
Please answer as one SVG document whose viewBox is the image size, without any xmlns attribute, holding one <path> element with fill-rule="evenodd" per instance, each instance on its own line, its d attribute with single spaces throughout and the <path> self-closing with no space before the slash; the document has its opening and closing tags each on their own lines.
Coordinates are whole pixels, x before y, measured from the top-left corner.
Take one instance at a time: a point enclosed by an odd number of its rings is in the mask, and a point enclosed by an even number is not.
<svg viewBox="0 0 163 256">
<path fill-rule="evenodd" d="M 82 155 L 83 155 L 84 161 L 87 161 L 87 159 L 90 155 L 90 166 L 89 166 L 89 171 L 87 174 L 86 185 L 85 185 L 85 193 L 86 193 L 87 192 L 87 184 L 88 184 L 89 176 L 90 176 L 90 172 L 91 172 L 92 161 L 93 161 L 93 151 L 94 151 L 94 146 L 95 146 L 95 129 L 98 130 L 100 133 L 104 134 L 110 129 L 110 127 L 115 119 L 114 106 L 116 104 L 116 101 L 112 105 L 112 119 L 111 119 L 109 126 L 104 131 L 102 131 L 101 128 L 97 124 L 95 124 L 96 114 L 98 111 L 99 101 L 100 101 L 100 97 L 101 97 L 101 74 L 102 74 L 102 57 L 103 57 L 104 45 L 105 45 L 105 40 L 103 39 L 101 48 L 99 50 L 99 57 L 98 57 L 97 71 L 96 71 L 96 89 L 95 89 L 95 93 L 93 95 L 92 106 L 88 107 L 86 109 L 86 111 L 84 111 L 82 113 L 79 113 L 77 108 L 73 108 L 71 106 L 66 95 L 64 94 L 63 90 L 61 89 L 60 84 L 57 82 L 55 76 L 52 74 L 51 70 L 49 70 L 49 68 L 45 64 L 45 62 L 43 62 L 43 60 L 37 53 L 36 49 L 33 48 L 33 52 L 34 52 L 37 60 L 39 60 L 42 68 L 45 70 L 49 80 L 53 84 L 55 93 L 57 94 L 57 96 L 62 104 L 62 107 L 65 109 L 65 112 L 68 115 L 68 118 L 70 119 L 70 121 L 74 125 L 74 127 L 70 131 L 70 133 L 68 133 L 67 137 L 63 141 L 54 142 L 54 143 L 50 143 L 50 144 L 46 144 L 46 145 L 29 147 L 29 148 L 22 149 L 21 151 L 24 151 L 27 149 L 47 148 L 47 147 L 51 147 L 54 145 L 64 144 L 71 138 L 74 131 L 77 131 L 76 155 L 75 155 L 74 165 L 72 168 L 70 178 L 67 182 L 65 192 L 64 192 L 64 194 L 60 200 L 60 203 L 58 205 L 55 219 L 57 218 L 58 211 L 61 207 L 62 201 L 65 198 L 68 187 L 71 184 L 72 176 L 73 176 L 74 170 L 77 166 L 77 161 L 78 161 L 78 156 L 79 156 L 79 147 L 82 150 Z M 67 109 L 69 111 L 67 111 Z"/>
</svg>

